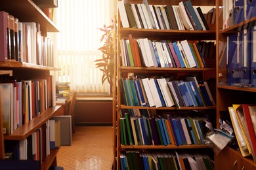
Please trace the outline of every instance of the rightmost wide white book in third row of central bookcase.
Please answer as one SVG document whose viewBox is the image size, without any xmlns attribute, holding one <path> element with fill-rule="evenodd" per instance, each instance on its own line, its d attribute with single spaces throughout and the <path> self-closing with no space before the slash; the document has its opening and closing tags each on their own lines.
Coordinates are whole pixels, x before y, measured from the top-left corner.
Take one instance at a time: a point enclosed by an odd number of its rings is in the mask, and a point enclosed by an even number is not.
<svg viewBox="0 0 256 170">
<path fill-rule="evenodd" d="M 163 98 L 165 99 L 165 104 L 167 107 L 172 107 L 175 105 L 173 97 L 171 97 L 171 92 L 168 88 L 168 84 L 165 78 L 158 78 L 158 84 L 160 86 Z"/>
</svg>

